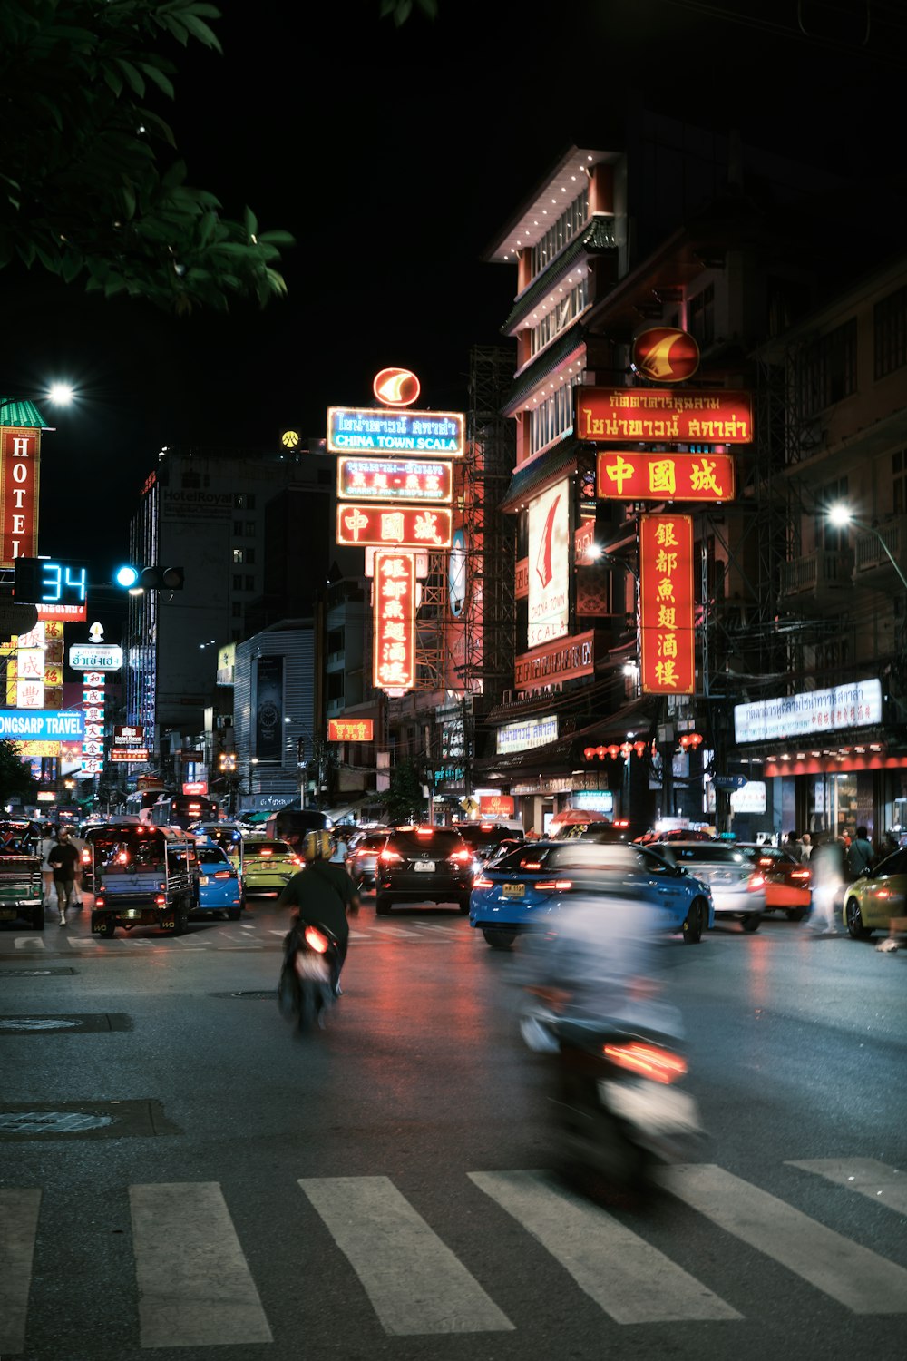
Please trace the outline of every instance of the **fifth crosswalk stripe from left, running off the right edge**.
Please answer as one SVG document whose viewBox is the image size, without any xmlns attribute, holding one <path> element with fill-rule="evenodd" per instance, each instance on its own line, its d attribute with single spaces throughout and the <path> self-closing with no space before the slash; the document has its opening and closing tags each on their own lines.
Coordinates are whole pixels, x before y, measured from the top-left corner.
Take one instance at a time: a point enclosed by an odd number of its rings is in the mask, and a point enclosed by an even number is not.
<svg viewBox="0 0 907 1361">
<path fill-rule="evenodd" d="M 907 1271 L 711 1164 L 665 1168 L 672 1195 L 853 1313 L 907 1313 Z"/>
</svg>

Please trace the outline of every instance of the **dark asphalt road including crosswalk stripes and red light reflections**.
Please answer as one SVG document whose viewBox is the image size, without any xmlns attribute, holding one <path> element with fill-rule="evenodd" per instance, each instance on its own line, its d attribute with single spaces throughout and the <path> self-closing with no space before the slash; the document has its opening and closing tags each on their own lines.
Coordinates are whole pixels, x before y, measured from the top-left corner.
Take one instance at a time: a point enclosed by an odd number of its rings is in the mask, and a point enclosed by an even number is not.
<svg viewBox="0 0 907 1361">
<path fill-rule="evenodd" d="M 708 1142 L 632 1210 L 545 1170 L 518 947 L 366 906 L 301 1041 L 283 930 L 0 927 L 4 1361 L 904 1356 L 907 950 L 677 940 Z"/>
</svg>

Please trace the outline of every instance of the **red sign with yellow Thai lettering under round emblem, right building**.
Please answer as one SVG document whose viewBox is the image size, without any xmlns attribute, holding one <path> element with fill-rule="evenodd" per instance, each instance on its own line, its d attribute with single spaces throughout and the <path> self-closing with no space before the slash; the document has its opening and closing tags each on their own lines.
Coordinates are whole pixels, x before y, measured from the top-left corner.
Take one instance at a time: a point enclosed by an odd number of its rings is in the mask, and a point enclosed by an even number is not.
<svg viewBox="0 0 907 1361">
<path fill-rule="evenodd" d="M 728 388 L 577 388 L 577 440 L 749 444 L 752 395 Z"/>
</svg>

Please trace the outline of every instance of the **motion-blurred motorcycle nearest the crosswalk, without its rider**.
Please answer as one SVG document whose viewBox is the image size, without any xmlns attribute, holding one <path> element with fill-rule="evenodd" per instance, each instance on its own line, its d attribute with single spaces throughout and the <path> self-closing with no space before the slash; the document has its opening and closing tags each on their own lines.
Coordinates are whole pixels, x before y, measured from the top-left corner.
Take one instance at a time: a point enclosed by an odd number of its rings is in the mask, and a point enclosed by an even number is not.
<svg viewBox="0 0 907 1361">
<path fill-rule="evenodd" d="M 555 1157 L 568 1177 L 592 1173 L 640 1192 L 660 1165 L 696 1153 L 704 1134 L 695 1098 L 680 1086 L 687 1060 L 674 1034 L 566 1017 L 545 989 L 530 991 L 538 1000 L 524 1011 L 521 1032 L 545 1055 Z"/>
</svg>

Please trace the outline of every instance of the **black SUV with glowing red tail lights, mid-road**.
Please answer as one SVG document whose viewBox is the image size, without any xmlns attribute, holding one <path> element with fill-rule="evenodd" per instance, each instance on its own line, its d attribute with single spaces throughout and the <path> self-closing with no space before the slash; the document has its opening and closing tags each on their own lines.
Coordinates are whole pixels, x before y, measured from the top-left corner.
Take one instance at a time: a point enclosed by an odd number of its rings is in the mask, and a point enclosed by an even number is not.
<svg viewBox="0 0 907 1361">
<path fill-rule="evenodd" d="M 375 912 L 394 902 L 456 902 L 469 912 L 472 849 L 453 827 L 397 827 L 375 864 Z"/>
</svg>

